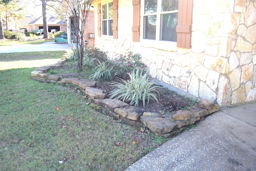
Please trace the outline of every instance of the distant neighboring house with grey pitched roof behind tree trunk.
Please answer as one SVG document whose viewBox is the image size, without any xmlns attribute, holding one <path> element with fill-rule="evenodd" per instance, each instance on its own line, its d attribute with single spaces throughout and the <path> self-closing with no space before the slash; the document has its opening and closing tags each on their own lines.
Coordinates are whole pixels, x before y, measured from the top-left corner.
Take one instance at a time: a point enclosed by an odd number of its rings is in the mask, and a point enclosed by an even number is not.
<svg viewBox="0 0 256 171">
<path fill-rule="evenodd" d="M 64 32 L 67 31 L 66 21 L 60 20 L 48 14 L 46 14 L 46 20 L 48 25 L 48 32 L 51 32 L 51 29 L 56 29 L 57 31 L 64 31 Z M 28 25 L 31 31 L 36 29 L 43 29 L 44 28 L 43 16 L 40 16 L 36 20 L 30 22 Z"/>
</svg>

